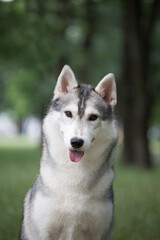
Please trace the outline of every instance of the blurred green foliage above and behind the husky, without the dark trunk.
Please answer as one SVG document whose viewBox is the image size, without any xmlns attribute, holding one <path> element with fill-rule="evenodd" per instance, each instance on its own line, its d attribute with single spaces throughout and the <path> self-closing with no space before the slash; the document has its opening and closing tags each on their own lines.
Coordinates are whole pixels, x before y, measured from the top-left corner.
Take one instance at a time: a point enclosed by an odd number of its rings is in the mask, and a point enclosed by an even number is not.
<svg viewBox="0 0 160 240">
<path fill-rule="evenodd" d="M 143 1 L 144 12 L 149 4 Z M 66 63 L 82 82 L 96 85 L 106 73 L 114 72 L 119 83 L 123 10 L 120 0 L 0 2 L 0 110 L 12 110 L 18 118 L 33 113 L 42 117 Z M 159 26 L 160 18 L 154 31 L 148 85 L 156 96 L 152 123 L 160 121 Z"/>
</svg>

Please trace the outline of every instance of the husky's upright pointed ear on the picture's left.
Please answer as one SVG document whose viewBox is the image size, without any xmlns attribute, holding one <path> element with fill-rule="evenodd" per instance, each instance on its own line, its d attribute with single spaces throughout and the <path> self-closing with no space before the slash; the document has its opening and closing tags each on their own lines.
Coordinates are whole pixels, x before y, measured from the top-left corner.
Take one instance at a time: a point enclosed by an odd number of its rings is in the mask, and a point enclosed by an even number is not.
<svg viewBox="0 0 160 240">
<path fill-rule="evenodd" d="M 57 84 L 54 89 L 54 98 L 62 96 L 62 94 L 71 91 L 77 86 L 78 83 L 72 69 L 68 65 L 65 65 L 58 77 Z"/>
</svg>

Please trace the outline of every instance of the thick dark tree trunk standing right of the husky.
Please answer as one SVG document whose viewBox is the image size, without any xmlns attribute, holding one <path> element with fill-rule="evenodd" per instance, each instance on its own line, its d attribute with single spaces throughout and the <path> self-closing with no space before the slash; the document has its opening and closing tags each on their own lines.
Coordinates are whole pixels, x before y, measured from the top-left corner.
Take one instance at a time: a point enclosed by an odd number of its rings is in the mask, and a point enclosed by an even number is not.
<svg viewBox="0 0 160 240">
<path fill-rule="evenodd" d="M 157 1 L 155 1 L 157 2 Z M 125 0 L 124 7 L 124 58 L 123 58 L 123 122 L 124 163 L 151 167 L 147 130 L 151 113 L 151 101 L 147 91 L 149 81 L 149 57 L 151 26 L 146 32 L 142 27 L 141 1 Z"/>
</svg>

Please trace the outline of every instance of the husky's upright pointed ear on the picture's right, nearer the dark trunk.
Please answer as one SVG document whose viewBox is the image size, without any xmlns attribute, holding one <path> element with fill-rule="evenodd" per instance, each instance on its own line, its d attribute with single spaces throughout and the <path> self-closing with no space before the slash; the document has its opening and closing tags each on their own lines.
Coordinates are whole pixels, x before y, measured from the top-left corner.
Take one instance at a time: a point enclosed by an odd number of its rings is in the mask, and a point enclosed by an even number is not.
<svg viewBox="0 0 160 240">
<path fill-rule="evenodd" d="M 116 83 L 112 73 L 107 74 L 95 88 L 96 92 L 110 105 L 112 108 L 117 103 Z"/>
</svg>

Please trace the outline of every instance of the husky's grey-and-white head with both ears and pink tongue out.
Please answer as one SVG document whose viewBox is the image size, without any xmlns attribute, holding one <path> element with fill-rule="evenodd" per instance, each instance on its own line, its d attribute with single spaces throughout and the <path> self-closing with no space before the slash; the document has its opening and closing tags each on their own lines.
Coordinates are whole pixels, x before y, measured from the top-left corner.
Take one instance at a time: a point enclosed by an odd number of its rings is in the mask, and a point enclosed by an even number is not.
<svg viewBox="0 0 160 240">
<path fill-rule="evenodd" d="M 78 162 L 96 138 L 111 135 L 116 101 L 113 74 L 106 75 L 94 88 L 79 85 L 71 68 L 64 66 L 54 90 L 50 112 L 56 112 L 59 131 L 71 161 Z"/>
</svg>

